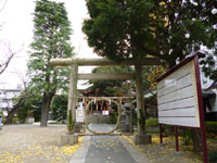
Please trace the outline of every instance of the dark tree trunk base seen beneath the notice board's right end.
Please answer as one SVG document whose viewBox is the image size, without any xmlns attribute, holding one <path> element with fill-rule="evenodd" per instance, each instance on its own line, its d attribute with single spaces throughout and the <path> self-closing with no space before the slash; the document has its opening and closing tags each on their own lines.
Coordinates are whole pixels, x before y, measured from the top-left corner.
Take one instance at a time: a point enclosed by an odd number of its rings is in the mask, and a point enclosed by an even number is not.
<svg viewBox="0 0 217 163">
<path fill-rule="evenodd" d="M 201 130 L 200 129 L 192 129 L 192 139 L 193 139 L 193 151 L 195 152 L 202 152 L 202 137 L 201 137 Z"/>
</svg>

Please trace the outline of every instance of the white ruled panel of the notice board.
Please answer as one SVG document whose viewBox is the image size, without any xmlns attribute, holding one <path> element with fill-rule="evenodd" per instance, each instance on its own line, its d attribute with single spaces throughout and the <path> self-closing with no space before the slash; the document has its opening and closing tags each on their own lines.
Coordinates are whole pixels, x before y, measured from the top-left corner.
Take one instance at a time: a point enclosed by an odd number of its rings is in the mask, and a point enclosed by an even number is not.
<svg viewBox="0 0 217 163">
<path fill-rule="evenodd" d="M 158 123 L 200 127 L 194 60 L 157 83 Z"/>
</svg>

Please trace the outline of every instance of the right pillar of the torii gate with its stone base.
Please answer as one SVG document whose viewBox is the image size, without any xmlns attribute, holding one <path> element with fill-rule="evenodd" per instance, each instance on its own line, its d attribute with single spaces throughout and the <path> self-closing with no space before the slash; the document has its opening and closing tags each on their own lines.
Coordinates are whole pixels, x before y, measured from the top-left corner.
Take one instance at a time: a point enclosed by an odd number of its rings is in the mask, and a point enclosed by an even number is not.
<svg viewBox="0 0 217 163">
<path fill-rule="evenodd" d="M 137 117 L 138 117 L 138 134 L 135 136 L 135 143 L 136 145 L 151 143 L 151 136 L 146 135 L 145 133 L 145 121 L 141 121 L 142 116 L 143 120 L 145 118 L 142 65 L 135 65 L 135 70 L 136 70 Z"/>
</svg>

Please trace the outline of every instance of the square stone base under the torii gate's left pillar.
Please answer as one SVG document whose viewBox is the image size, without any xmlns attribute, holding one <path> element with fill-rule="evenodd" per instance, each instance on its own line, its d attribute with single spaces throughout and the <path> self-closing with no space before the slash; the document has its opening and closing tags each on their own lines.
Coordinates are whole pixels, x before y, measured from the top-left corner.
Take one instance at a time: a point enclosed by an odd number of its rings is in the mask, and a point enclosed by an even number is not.
<svg viewBox="0 0 217 163">
<path fill-rule="evenodd" d="M 61 145 L 75 145 L 78 143 L 78 135 L 77 134 L 62 134 L 61 135 Z"/>
</svg>

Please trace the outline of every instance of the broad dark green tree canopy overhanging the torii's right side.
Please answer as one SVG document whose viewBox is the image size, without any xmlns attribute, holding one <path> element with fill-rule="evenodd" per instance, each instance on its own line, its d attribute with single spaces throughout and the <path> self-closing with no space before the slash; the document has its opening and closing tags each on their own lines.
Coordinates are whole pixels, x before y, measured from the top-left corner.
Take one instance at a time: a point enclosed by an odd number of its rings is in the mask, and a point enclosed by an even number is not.
<svg viewBox="0 0 217 163">
<path fill-rule="evenodd" d="M 216 1 L 89 0 L 82 30 L 99 55 L 155 57 L 176 64 L 200 47 L 214 47 Z"/>
</svg>

